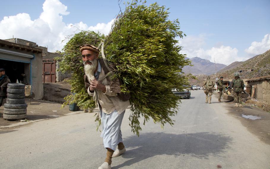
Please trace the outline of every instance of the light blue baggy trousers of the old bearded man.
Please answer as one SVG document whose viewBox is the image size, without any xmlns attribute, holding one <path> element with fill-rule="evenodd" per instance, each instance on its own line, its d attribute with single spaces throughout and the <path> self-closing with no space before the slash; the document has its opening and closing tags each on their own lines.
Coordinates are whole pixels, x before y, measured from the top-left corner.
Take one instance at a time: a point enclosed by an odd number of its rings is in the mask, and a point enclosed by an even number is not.
<svg viewBox="0 0 270 169">
<path fill-rule="evenodd" d="M 110 148 L 115 151 L 117 144 L 123 142 L 120 128 L 125 111 L 123 111 L 120 115 L 116 110 L 114 110 L 111 114 L 106 114 L 100 109 L 102 126 L 102 133 L 100 137 L 103 138 L 104 148 Z"/>
</svg>

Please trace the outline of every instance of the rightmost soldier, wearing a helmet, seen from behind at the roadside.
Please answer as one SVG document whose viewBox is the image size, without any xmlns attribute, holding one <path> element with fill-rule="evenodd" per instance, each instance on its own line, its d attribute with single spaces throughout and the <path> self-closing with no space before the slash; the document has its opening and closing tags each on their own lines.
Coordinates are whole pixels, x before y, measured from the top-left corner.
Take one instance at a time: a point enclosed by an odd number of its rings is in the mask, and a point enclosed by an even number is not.
<svg viewBox="0 0 270 169">
<path fill-rule="evenodd" d="M 234 79 L 231 82 L 234 89 L 234 101 L 236 102 L 234 107 L 242 106 L 242 91 L 244 91 L 244 81 L 240 79 L 239 73 L 234 73 Z"/>
</svg>

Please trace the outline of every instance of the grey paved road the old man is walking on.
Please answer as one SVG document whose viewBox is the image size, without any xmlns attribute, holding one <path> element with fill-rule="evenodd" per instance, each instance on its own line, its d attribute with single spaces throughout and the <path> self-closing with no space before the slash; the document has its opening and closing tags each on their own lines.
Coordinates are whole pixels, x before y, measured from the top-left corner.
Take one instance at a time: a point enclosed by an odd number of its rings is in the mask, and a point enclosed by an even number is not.
<svg viewBox="0 0 270 169">
<path fill-rule="evenodd" d="M 122 133 L 127 152 L 113 158 L 113 169 L 269 169 L 270 146 L 247 131 L 214 96 L 202 90 L 182 99 L 173 127 L 152 122 L 140 137 L 131 133 L 127 111 Z M 106 154 L 93 113 L 68 115 L 0 130 L 0 168 L 97 169 Z"/>
</svg>

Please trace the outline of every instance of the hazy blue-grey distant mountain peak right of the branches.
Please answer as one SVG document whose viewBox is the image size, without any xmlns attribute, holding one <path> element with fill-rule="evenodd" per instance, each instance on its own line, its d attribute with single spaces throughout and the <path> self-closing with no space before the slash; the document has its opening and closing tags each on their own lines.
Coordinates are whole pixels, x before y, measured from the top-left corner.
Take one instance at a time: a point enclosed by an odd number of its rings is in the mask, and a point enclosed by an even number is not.
<svg viewBox="0 0 270 169">
<path fill-rule="evenodd" d="M 187 59 L 191 60 L 191 64 L 193 66 L 185 66 L 183 68 L 183 71 L 186 74 L 191 73 L 193 75 L 199 75 L 199 74 L 211 75 L 211 74 L 216 73 L 216 71 L 219 71 L 226 67 L 226 65 L 223 65 L 220 63 L 215 64 L 213 62 L 210 62 L 209 60 L 201 59 L 199 57 L 193 57 L 193 58 L 187 58 Z"/>
</svg>

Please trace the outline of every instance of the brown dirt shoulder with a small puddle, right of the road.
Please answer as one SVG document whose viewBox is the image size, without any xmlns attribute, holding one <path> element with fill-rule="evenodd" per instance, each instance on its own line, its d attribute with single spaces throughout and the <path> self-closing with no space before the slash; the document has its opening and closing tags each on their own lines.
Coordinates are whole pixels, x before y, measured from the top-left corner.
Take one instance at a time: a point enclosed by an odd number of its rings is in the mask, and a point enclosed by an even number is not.
<svg viewBox="0 0 270 169">
<path fill-rule="evenodd" d="M 217 97 L 217 95 L 215 95 Z M 243 126 L 249 132 L 255 134 L 261 141 L 270 145 L 270 113 L 260 110 L 256 107 L 243 105 L 244 107 L 234 107 L 235 102 L 228 100 L 221 100 L 225 102 L 229 114 L 239 119 Z M 244 118 L 242 115 L 258 116 L 260 119 L 251 120 Z"/>
</svg>

